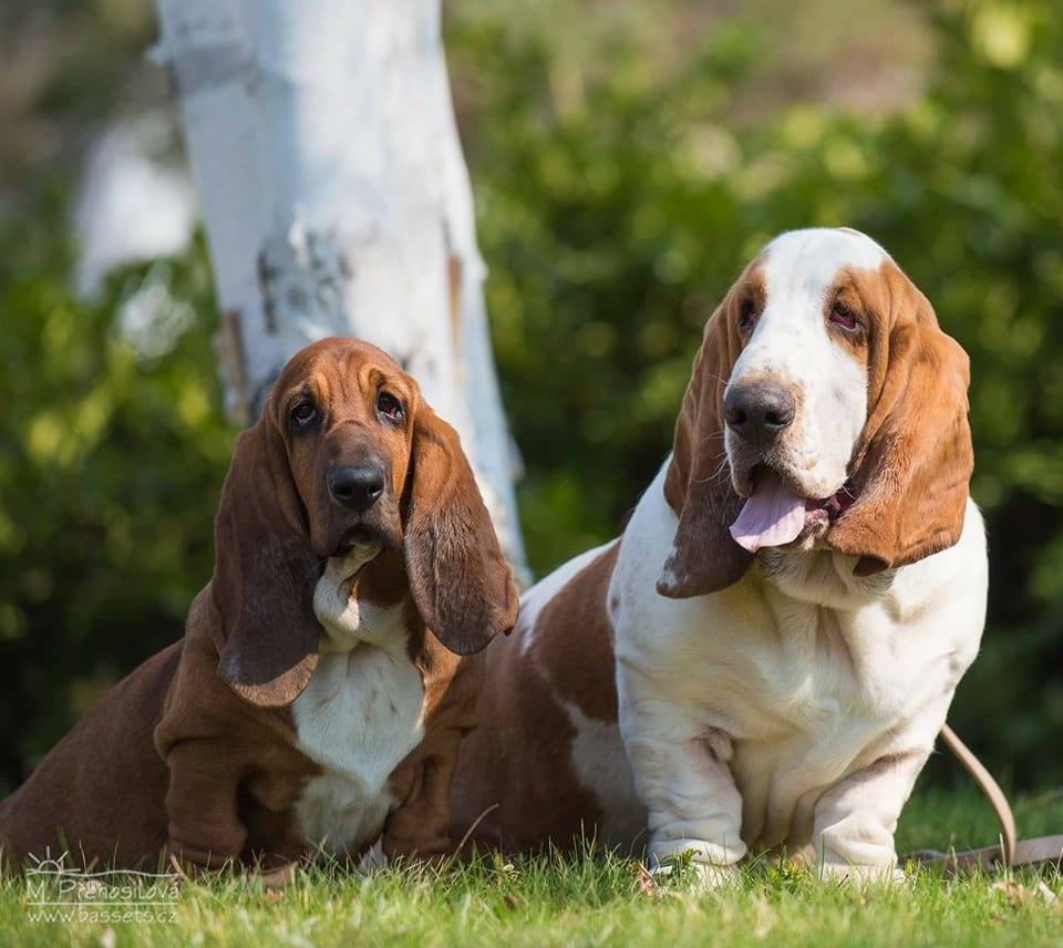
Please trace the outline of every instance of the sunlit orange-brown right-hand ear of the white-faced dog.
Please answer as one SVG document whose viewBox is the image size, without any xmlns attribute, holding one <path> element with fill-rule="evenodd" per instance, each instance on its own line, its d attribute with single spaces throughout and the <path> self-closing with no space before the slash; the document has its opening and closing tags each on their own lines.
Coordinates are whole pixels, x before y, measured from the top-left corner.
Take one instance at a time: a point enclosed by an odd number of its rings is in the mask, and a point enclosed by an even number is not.
<svg viewBox="0 0 1063 948">
<path fill-rule="evenodd" d="M 891 326 L 868 360 L 870 409 L 852 473 L 857 499 L 827 534 L 835 549 L 859 557 L 858 576 L 956 544 L 974 467 L 967 353 L 907 277 L 896 270 L 890 284 Z"/>
</svg>

